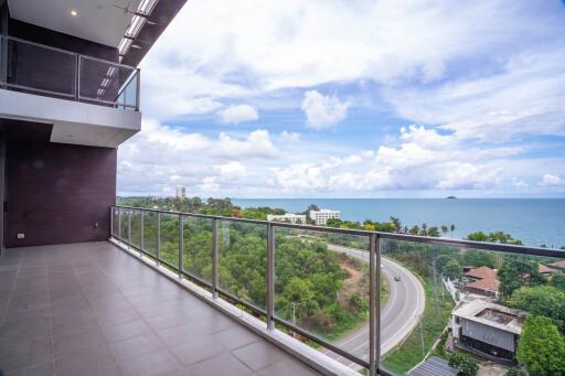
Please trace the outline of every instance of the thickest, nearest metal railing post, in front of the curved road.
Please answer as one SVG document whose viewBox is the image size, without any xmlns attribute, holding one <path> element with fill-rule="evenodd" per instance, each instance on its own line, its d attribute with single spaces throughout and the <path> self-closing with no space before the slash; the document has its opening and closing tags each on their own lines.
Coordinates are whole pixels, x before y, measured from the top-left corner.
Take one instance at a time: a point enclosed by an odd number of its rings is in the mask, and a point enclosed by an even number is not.
<svg viewBox="0 0 565 376">
<path fill-rule="evenodd" d="M 381 362 L 381 239 L 371 234 L 369 250 L 369 375 L 379 374 Z"/>
</svg>

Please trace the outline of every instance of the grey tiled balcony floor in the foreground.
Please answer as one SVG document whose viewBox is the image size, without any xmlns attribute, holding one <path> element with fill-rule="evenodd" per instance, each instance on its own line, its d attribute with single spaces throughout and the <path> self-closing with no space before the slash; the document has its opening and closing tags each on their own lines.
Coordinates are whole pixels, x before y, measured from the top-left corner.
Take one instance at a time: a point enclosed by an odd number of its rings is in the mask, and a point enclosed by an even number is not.
<svg viewBox="0 0 565 376">
<path fill-rule="evenodd" d="M 109 243 L 0 257 L 0 375 L 316 375 Z"/>
</svg>

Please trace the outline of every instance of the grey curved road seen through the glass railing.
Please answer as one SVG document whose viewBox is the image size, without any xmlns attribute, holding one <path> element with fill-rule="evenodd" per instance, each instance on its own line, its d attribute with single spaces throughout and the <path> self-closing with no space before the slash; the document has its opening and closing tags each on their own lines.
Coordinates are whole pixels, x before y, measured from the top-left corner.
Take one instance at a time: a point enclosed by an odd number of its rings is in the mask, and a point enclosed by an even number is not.
<svg viewBox="0 0 565 376">
<path fill-rule="evenodd" d="M 369 262 L 366 251 L 330 244 L 328 248 Z M 422 282 L 408 269 L 384 257 L 381 258 L 381 265 L 390 284 L 388 301 L 381 308 L 381 354 L 386 354 L 416 326 L 424 312 L 426 296 Z M 401 277 L 399 281 L 394 280 L 396 276 Z M 369 359 L 369 322 L 334 344 L 358 357 Z M 350 367 L 360 368 L 355 363 L 330 351 L 322 352 Z"/>
</svg>

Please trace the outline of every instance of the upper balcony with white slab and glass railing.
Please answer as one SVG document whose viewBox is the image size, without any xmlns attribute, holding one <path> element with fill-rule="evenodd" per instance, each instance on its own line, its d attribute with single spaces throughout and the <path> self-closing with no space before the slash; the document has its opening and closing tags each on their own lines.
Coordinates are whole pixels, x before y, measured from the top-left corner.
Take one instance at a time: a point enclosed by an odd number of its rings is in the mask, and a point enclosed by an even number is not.
<svg viewBox="0 0 565 376">
<path fill-rule="evenodd" d="M 140 130 L 139 68 L 0 36 L 0 117 L 53 123 L 52 142 L 117 147 Z"/>
</svg>

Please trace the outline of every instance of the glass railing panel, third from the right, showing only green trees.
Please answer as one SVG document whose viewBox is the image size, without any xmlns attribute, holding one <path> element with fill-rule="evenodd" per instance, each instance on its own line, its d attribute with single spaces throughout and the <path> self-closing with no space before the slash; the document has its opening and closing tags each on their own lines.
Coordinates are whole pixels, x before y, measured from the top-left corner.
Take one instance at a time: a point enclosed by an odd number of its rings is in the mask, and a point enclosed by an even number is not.
<svg viewBox="0 0 565 376">
<path fill-rule="evenodd" d="M 218 287 L 263 311 L 267 301 L 267 225 L 218 221 Z"/>
</svg>

